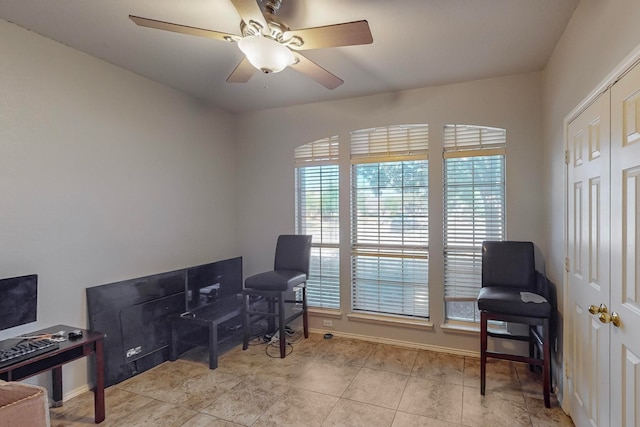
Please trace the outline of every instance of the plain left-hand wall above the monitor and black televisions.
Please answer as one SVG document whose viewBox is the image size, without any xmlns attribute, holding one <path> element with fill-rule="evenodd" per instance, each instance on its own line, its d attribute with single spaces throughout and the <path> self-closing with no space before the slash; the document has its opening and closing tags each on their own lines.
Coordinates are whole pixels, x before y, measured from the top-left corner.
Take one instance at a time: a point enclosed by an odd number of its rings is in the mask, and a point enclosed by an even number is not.
<svg viewBox="0 0 640 427">
<path fill-rule="evenodd" d="M 0 339 L 87 326 L 86 287 L 239 254 L 232 116 L 2 20 L 0 58 L 0 277 L 39 275 L 37 323 Z"/>
</svg>

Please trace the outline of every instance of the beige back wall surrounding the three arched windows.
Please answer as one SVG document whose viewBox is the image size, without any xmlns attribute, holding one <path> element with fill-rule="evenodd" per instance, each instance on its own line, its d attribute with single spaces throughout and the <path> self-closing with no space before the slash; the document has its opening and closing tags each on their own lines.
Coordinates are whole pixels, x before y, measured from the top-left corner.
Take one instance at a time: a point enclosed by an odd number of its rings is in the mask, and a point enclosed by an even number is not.
<svg viewBox="0 0 640 427">
<path fill-rule="evenodd" d="M 342 316 L 343 333 L 395 339 L 426 346 L 479 351 L 476 334 L 445 333 L 442 304 L 442 127 L 476 124 L 507 129 L 507 228 L 513 240 L 538 243 L 542 226 L 540 74 L 527 74 L 247 113 L 238 120 L 238 243 L 245 275 L 270 269 L 278 234 L 294 229 L 293 153 L 298 145 L 339 134 L 348 156 L 349 131 L 388 124 L 430 125 L 430 282 L 433 331 L 371 325 Z M 344 151 L 343 151 L 344 152 Z M 348 162 L 341 178 L 348 182 Z M 438 196 L 440 195 L 440 196 Z M 348 220 L 341 199 L 341 221 Z M 348 241 L 348 234 L 342 236 Z M 347 246 L 348 248 L 348 246 Z M 343 264 L 348 263 L 343 257 Z M 348 269 L 347 269 L 348 272 Z M 349 295 L 348 274 L 342 292 Z M 312 327 L 322 328 L 321 319 Z"/>
</svg>

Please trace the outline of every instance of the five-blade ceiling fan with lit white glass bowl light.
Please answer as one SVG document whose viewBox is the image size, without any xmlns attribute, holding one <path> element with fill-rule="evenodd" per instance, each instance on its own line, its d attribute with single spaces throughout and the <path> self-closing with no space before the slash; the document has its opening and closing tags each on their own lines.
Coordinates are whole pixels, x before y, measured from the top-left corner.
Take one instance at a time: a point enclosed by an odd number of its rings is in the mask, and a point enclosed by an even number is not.
<svg viewBox="0 0 640 427">
<path fill-rule="evenodd" d="M 258 2 L 262 3 L 262 8 Z M 134 15 L 129 15 L 129 18 L 142 27 L 237 42 L 245 58 L 227 77 L 227 82 L 231 83 L 247 82 L 256 70 L 263 73 L 277 73 L 289 66 L 326 88 L 335 89 L 344 81 L 311 61 L 301 51 L 373 43 L 369 24 L 364 20 L 291 30 L 276 17 L 282 0 L 231 0 L 231 3 L 242 19 L 240 22 L 242 35 Z"/>
</svg>

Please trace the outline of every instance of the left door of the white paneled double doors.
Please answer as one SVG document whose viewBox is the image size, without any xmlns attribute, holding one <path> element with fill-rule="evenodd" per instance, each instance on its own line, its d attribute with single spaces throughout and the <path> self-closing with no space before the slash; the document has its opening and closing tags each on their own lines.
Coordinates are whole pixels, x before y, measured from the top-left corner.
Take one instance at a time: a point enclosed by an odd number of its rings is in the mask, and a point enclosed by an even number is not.
<svg viewBox="0 0 640 427">
<path fill-rule="evenodd" d="M 569 387 L 577 426 L 609 426 L 609 92 L 568 129 Z M 602 306 L 601 306 L 602 305 Z M 591 309 L 591 311 L 590 311 Z"/>
</svg>

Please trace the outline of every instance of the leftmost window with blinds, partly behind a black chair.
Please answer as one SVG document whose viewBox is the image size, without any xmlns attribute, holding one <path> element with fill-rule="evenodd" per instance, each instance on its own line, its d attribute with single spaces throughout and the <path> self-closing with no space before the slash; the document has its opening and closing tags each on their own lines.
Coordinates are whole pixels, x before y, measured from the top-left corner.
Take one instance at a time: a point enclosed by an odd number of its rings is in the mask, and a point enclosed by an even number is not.
<svg viewBox="0 0 640 427">
<path fill-rule="evenodd" d="M 310 234 L 310 306 L 340 308 L 338 137 L 295 149 L 296 233 Z"/>
</svg>

